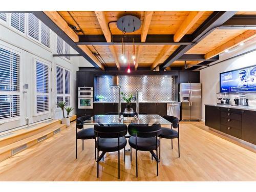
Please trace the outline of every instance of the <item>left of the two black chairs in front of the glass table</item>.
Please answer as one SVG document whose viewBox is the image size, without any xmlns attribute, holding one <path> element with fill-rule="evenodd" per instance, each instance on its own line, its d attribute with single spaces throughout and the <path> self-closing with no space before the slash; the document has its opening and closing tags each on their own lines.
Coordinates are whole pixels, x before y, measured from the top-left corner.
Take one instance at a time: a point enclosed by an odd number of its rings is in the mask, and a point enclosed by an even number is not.
<svg viewBox="0 0 256 192">
<path fill-rule="evenodd" d="M 118 152 L 118 179 L 120 179 L 120 150 L 124 149 L 127 141 L 124 136 L 127 133 L 125 124 L 111 124 L 110 126 L 94 125 L 97 148 L 97 178 L 99 178 L 99 161 L 106 152 Z M 99 152 L 102 152 L 99 156 Z M 125 161 L 125 151 L 124 161 Z"/>
</svg>

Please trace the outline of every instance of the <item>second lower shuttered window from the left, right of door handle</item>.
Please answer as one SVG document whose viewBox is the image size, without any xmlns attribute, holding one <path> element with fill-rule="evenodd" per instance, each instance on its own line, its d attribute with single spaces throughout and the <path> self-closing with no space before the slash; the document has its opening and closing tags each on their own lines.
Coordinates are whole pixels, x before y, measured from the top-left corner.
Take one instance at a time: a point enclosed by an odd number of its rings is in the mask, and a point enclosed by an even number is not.
<svg viewBox="0 0 256 192">
<path fill-rule="evenodd" d="M 36 60 L 36 113 L 49 111 L 49 66 Z"/>
</svg>

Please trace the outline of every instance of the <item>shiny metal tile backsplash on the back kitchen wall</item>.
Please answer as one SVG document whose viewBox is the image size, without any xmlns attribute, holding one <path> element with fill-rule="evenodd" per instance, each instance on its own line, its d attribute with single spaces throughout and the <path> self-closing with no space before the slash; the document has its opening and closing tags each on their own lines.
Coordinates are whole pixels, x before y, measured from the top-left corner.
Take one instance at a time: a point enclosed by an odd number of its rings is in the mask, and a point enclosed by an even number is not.
<svg viewBox="0 0 256 192">
<path fill-rule="evenodd" d="M 121 92 L 136 95 L 139 91 L 139 101 L 174 101 L 174 76 L 118 76 Z M 117 102 L 118 89 L 111 88 L 113 76 L 97 76 L 95 81 L 95 96 L 103 95 L 104 101 Z M 121 100 L 123 101 L 123 99 Z"/>
</svg>

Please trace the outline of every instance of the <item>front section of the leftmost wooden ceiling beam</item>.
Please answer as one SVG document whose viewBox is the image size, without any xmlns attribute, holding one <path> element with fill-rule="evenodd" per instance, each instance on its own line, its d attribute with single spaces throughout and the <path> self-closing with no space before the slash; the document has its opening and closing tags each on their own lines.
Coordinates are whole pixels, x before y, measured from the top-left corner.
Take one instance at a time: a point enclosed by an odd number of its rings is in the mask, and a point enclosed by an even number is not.
<svg viewBox="0 0 256 192">
<path fill-rule="evenodd" d="M 44 13 L 74 42 L 78 42 L 78 35 L 69 27 L 66 20 L 64 20 L 57 11 L 44 11 Z"/>
</svg>

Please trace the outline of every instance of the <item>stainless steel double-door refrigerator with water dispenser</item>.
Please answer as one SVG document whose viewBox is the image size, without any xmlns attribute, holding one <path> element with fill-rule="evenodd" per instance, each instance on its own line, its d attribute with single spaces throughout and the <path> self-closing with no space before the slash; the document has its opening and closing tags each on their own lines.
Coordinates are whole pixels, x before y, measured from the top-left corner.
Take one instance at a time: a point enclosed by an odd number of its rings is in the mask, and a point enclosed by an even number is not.
<svg viewBox="0 0 256 192">
<path fill-rule="evenodd" d="M 201 119 L 201 83 L 180 83 L 181 120 Z"/>
</svg>

